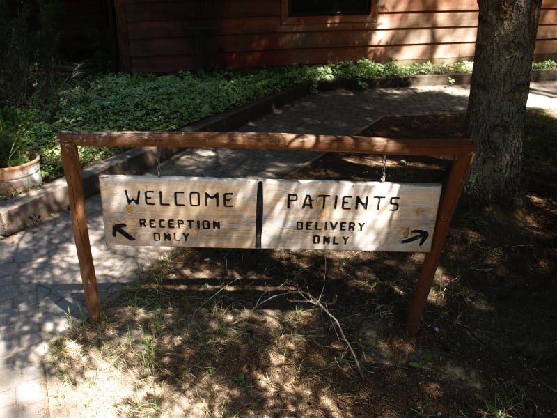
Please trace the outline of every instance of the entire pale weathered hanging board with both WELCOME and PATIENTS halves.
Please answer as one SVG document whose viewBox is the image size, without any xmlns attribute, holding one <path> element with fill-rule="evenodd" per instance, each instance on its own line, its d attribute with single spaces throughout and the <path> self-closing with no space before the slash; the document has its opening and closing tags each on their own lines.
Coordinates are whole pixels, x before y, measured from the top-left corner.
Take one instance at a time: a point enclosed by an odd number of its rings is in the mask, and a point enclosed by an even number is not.
<svg viewBox="0 0 557 418">
<path fill-rule="evenodd" d="M 441 185 L 100 176 L 109 245 L 427 252 Z"/>
</svg>

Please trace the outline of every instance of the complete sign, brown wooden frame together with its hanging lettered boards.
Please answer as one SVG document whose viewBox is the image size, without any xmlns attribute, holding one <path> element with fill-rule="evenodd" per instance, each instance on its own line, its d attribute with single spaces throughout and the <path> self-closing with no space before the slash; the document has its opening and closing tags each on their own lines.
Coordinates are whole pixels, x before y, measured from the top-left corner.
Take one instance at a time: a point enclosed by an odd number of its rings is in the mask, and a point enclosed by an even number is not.
<svg viewBox="0 0 557 418">
<path fill-rule="evenodd" d="M 110 244 L 171 245 L 172 242 L 172 245 L 191 247 L 427 251 L 407 316 L 409 335 L 418 332 L 450 220 L 478 150 L 476 141 L 469 139 L 387 139 L 269 132 L 58 132 L 58 140 L 68 182 L 81 280 L 93 322 L 101 318 L 100 301 L 78 146 L 313 150 L 453 157 L 443 187 L 318 180 L 100 178 L 105 231 Z"/>
</svg>

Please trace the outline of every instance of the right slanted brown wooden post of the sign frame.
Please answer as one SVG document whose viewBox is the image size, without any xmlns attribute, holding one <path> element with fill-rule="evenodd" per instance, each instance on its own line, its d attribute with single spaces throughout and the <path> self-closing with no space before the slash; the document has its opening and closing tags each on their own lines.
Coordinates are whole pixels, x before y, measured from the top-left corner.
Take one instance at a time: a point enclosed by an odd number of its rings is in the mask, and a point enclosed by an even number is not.
<svg viewBox="0 0 557 418">
<path fill-rule="evenodd" d="M 439 265 L 439 259 L 441 258 L 441 251 L 443 251 L 445 245 L 450 220 L 453 219 L 458 199 L 460 198 L 462 189 L 464 189 L 473 155 L 473 153 L 462 153 L 457 155 L 453 161 L 453 167 L 450 169 L 445 192 L 439 204 L 439 213 L 437 214 L 432 248 L 430 252 L 425 254 L 420 278 L 418 279 L 418 284 L 416 284 L 416 290 L 414 291 L 406 320 L 406 332 L 409 336 L 414 336 L 418 333 L 420 318 L 425 308 L 425 303 L 427 302 L 427 295 L 430 294 L 437 266 Z"/>
</svg>

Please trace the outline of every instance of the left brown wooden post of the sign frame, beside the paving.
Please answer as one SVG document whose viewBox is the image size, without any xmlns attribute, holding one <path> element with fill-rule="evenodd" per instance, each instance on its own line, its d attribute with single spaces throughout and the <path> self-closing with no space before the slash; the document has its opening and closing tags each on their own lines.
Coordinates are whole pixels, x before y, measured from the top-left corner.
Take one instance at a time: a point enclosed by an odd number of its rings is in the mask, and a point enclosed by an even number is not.
<svg viewBox="0 0 557 418">
<path fill-rule="evenodd" d="M 81 281 L 85 291 L 85 300 L 89 318 L 93 322 L 100 320 L 100 301 L 97 291 L 97 277 L 91 254 L 91 242 L 87 228 L 85 213 L 85 195 L 83 189 L 83 176 L 77 146 L 70 142 L 61 142 L 62 162 L 64 174 L 68 183 L 68 199 L 70 201 L 70 215 L 74 232 L 75 247 L 81 270 Z"/>
</svg>

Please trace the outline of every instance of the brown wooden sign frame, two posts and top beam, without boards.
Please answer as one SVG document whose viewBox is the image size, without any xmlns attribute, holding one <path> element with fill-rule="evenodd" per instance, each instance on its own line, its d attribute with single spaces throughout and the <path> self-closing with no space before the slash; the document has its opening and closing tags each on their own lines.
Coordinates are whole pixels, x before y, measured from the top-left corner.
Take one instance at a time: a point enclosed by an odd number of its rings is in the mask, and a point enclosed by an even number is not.
<svg viewBox="0 0 557 418">
<path fill-rule="evenodd" d="M 366 153 L 377 155 L 422 155 L 453 157 L 448 181 L 441 194 L 439 211 L 431 251 L 425 254 L 421 274 L 410 304 L 406 331 L 414 336 L 418 332 L 427 295 L 441 251 L 444 247 L 450 221 L 464 189 L 478 143 L 470 139 L 389 139 L 342 135 L 285 134 L 263 132 L 58 132 L 61 144 L 72 229 L 79 259 L 89 317 L 93 322 L 101 318 L 97 277 L 85 212 L 85 195 L 78 146 L 102 147 L 189 147 L 310 150 L 337 153 Z"/>
</svg>

